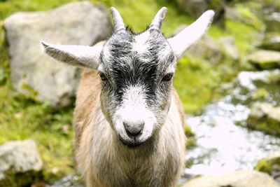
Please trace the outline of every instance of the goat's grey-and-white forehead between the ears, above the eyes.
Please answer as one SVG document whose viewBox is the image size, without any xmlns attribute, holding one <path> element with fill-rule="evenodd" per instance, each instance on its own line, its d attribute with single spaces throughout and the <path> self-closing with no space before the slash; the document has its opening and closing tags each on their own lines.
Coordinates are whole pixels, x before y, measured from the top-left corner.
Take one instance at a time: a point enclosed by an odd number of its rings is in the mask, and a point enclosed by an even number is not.
<svg viewBox="0 0 280 187">
<path fill-rule="evenodd" d="M 173 61 L 174 53 L 165 37 L 160 32 L 150 30 L 139 35 L 130 32 L 113 34 L 102 51 L 105 66 L 139 62 L 167 67 Z"/>
</svg>

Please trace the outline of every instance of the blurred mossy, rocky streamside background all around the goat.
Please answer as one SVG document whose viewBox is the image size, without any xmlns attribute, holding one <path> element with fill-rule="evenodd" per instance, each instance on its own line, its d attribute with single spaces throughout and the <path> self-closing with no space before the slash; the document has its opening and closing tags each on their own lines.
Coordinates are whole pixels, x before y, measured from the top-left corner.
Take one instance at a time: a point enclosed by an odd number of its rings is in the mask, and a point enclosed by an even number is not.
<svg viewBox="0 0 280 187">
<path fill-rule="evenodd" d="M 82 185 L 72 149 L 80 69 L 50 62 L 39 41 L 107 39 L 111 6 L 136 32 L 166 6 L 167 38 L 204 11 L 216 12 L 207 34 L 177 64 L 174 86 L 188 137 L 179 185 L 190 186 L 194 176 L 237 179 L 240 169 L 248 179 L 254 169 L 262 172 L 253 175 L 258 185 L 278 186 L 280 1 L 272 0 L 0 0 L 0 186 Z"/>
</svg>

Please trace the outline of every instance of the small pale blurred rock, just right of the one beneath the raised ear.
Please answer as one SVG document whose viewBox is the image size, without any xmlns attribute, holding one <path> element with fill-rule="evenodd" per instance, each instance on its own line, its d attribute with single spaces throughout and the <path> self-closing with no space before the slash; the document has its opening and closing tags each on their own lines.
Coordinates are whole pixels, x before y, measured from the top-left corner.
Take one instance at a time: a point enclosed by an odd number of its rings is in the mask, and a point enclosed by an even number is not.
<svg viewBox="0 0 280 187">
<path fill-rule="evenodd" d="M 226 55 L 231 57 L 233 60 L 239 59 L 239 51 L 235 46 L 235 38 L 233 36 L 221 37 L 218 39 L 218 43 L 220 44 L 221 48 L 223 48 L 223 51 Z"/>
</svg>

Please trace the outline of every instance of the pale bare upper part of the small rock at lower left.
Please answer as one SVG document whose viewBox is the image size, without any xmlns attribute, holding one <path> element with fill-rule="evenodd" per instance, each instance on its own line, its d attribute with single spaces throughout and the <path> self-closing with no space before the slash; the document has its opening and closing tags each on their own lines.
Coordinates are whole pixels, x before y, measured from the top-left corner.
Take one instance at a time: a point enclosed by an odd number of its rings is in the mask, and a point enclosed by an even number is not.
<svg viewBox="0 0 280 187">
<path fill-rule="evenodd" d="M 6 173 L 39 172 L 43 162 L 33 140 L 8 141 L 0 146 L 0 186 Z"/>
</svg>

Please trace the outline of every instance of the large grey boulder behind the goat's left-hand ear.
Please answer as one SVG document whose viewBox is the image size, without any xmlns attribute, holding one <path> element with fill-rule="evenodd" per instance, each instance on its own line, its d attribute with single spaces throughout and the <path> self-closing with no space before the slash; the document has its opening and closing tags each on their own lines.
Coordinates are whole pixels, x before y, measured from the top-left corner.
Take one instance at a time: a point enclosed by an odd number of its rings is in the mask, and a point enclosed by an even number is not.
<svg viewBox="0 0 280 187">
<path fill-rule="evenodd" d="M 44 55 L 40 41 L 92 46 L 112 33 L 107 11 L 89 1 L 73 2 L 45 12 L 15 13 L 3 25 L 9 44 L 13 87 L 55 108 L 73 102 L 80 71 Z"/>
</svg>

